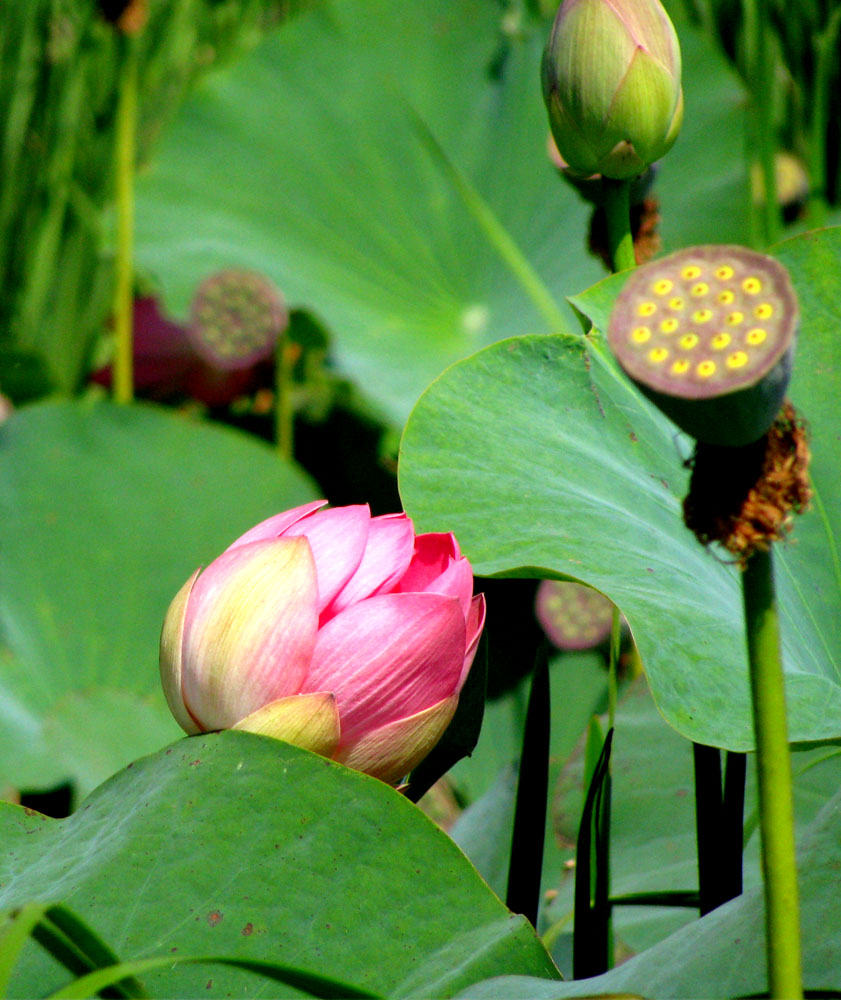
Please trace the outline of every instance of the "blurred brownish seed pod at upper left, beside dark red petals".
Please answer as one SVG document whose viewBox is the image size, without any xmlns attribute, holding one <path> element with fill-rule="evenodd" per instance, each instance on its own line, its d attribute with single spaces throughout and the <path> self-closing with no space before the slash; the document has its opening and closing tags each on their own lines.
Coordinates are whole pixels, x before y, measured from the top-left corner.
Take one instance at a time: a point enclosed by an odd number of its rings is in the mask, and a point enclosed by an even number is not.
<svg viewBox="0 0 841 1000">
<path fill-rule="evenodd" d="M 196 291 L 189 335 L 208 364 L 233 371 L 270 358 L 288 323 L 283 296 L 268 278 L 219 271 Z"/>
</svg>

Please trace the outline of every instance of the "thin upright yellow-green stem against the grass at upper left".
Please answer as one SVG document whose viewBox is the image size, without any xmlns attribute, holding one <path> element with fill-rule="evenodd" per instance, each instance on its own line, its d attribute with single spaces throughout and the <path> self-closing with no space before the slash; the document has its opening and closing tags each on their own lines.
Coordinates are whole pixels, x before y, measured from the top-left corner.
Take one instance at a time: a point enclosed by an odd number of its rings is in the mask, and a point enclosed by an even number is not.
<svg viewBox="0 0 841 1000">
<path fill-rule="evenodd" d="M 114 399 L 130 403 L 134 396 L 134 165 L 137 132 L 137 48 L 131 37 L 120 39 L 120 66 L 116 122 L 117 259 L 115 263 Z"/>
</svg>

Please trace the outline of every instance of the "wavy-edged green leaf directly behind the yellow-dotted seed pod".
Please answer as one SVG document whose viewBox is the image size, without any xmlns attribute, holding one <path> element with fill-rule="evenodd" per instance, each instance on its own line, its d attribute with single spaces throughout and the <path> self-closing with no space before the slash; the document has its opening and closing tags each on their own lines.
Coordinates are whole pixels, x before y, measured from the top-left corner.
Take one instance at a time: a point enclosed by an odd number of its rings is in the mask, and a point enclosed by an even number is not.
<svg viewBox="0 0 841 1000">
<path fill-rule="evenodd" d="M 841 232 L 796 237 L 779 253 L 801 299 L 792 391 L 813 428 L 821 502 L 800 519 L 795 544 L 778 547 L 777 577 L 790 736 L 815 741 L 841 736 L 838 501 L 829 499 L 840 457 Z M 480 574 L 569 576 L 603 591 L 628 619 L 666 720 L 698 742 L 749 749 L 738 574 L 683 526 L 689 450 L 600 336 L 523 337 L 430 387 L 404 435 L 401 492 L 419 529 L 454 531 Z"/>
</svg>

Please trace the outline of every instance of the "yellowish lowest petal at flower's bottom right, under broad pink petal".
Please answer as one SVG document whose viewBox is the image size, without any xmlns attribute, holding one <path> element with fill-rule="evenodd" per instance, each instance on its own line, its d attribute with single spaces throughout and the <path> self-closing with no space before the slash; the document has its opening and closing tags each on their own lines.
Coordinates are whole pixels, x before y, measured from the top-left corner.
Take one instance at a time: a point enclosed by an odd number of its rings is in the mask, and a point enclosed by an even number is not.
<svg viewBox="0 0 841 1000">
<path fill-rule="evenodd" d="M 390 785 L 396 784 L 426 757 L 450 724 L 458 695 L 439 701 L 399 722 L 381 726 L 337 754 L 336 760 Z"/>
</svg>

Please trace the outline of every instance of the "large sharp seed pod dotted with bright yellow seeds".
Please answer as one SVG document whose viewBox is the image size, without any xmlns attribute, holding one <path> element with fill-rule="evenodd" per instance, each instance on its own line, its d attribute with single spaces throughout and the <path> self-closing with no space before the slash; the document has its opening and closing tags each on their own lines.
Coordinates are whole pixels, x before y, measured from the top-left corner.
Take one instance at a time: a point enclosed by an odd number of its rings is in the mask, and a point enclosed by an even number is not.
<svg viewBox="0 0 841 1000">
<path fill-rule="evenodd" d="M 631 274 L 608 340 L 678 427 L 706 444 L 741 446 L 780 411 L 797 324 L 779 261 L 738 246 L 689 247 Z"/>
</svg>

